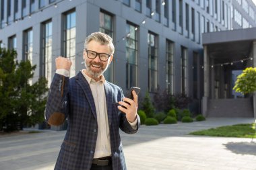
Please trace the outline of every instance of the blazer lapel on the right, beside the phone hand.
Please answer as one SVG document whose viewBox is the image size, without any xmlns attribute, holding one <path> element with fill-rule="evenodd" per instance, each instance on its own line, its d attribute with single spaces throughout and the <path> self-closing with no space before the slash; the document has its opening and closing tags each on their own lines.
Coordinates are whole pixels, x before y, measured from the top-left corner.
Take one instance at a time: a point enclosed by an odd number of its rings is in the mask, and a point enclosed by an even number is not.
<svg viewBox="0 0 256 170">
<path fill-rule="evenodd" d="M 106 108 L 108 112 L 108 125 L 110 128 L 112 124 L 112 107 L 113 107 L 112 89 L 107 81 L 105 81 L 104 87 L 105 87 L 105 95 L 106 95 Z"/>
</svg>

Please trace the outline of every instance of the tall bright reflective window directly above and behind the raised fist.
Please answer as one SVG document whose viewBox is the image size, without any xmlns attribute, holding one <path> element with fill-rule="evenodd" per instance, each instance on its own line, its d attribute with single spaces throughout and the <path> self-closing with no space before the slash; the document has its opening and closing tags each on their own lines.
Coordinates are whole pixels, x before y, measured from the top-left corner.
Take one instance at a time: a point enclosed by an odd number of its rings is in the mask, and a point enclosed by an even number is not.
<svg viewBox="0 0 256 170">
<path fill-rule="evenodd" d="M 64 14 L 63 56 L 69 58 L 73 65 L 69 77 L 75 76 L 75 11 Z"/>
</svg>

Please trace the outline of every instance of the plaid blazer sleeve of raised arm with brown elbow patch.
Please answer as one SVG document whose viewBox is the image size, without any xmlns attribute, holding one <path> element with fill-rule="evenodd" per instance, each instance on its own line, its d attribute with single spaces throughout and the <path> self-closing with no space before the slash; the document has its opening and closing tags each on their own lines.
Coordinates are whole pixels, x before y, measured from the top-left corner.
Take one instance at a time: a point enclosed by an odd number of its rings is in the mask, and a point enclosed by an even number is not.
<svg viewBox="0 0 256 170">
<path fill-rule="evenodd" d="M 55 73 L 45 109 L 46 121 L 54 126 L 63 124 L 68 115 L 69 77 Z"/>
</svg>

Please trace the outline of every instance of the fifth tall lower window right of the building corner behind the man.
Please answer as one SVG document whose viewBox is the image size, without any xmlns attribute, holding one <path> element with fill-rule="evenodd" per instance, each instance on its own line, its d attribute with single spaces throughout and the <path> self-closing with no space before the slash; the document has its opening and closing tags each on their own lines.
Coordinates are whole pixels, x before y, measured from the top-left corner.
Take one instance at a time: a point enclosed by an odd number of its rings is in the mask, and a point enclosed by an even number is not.
<svg viewBox="0 0 256 170">
<path fill-rule="evenodd" d="M 187 95 L 187 48 L 181 47 L 181 93 Z"/>
</svg>

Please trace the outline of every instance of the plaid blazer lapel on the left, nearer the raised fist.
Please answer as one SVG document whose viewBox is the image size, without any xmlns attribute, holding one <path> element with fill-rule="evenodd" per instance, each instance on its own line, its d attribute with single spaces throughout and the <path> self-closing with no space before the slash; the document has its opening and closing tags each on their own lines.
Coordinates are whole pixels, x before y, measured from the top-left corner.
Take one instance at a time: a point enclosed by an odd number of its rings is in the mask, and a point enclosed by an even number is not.
<svg viewBox="0 0 256 170">
<path fill-rule="evenodd" d="M 92 91 L 90 89 L 90 85 L 88 81 L 86 81 L 84 75 L 79 71 L 79 73 L 75 76 L 76 82 L 80 85 L 82 90 L 84 91 L 84 95 L 86 95 L 86 98 L 90 104 L 90 107 L 92 109 L 92 114 L 94 115 L 94 118 L 97 120 L 97 114 L 96 114 L 96 107 L 94 104 L 94 97 L 92 96 Z"/>
</svg>

